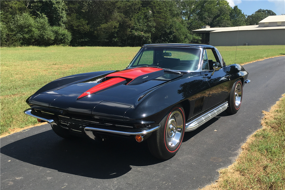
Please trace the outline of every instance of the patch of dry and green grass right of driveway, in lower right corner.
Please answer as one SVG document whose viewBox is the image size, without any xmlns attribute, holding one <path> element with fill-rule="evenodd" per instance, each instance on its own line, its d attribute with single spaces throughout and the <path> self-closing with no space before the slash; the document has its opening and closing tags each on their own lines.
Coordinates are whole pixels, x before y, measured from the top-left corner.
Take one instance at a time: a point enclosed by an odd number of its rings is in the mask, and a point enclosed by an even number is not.
<svg viewBox="0 0 285 190">
<path fill-rule="evenodd" d="M 205 190 L 285 189 L 285 94 L 242 146 L 236 162 L 219 171 L 220 178 Z"/>
</svg>

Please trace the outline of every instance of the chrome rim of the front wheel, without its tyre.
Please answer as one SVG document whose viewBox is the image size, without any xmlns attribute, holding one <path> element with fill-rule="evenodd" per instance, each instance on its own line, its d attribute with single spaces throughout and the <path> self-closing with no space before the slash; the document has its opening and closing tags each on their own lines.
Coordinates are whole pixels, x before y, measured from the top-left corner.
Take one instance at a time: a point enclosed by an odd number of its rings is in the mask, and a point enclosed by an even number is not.
<svg viewBox="0 0 285 190">
<path fill-rule="evenodd" d="M 179 111 L 174 111 L 170 114 L 169 120 L 166 124 L 166 144 L 169 148 L 174 148 L 180 144 L 180 137 L 183 128 L 183 117 Z"/>
</svg>

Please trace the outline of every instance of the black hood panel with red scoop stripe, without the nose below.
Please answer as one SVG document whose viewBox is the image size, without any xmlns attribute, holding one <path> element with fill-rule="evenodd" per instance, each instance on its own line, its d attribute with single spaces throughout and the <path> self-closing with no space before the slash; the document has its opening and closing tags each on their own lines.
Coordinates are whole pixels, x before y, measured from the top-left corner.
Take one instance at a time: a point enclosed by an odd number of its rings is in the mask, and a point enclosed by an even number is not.
<svg viewBox="0 0 285 190">
<path fill-rule="evenodd" d="M 144 91 L 180 77 L 179 73 L 160 68 L 133 68 L 73 83 L 57 90 L 58 94 L 78 93 L 78 99 L 94 94 L 131 99 Z"/>
</svg>

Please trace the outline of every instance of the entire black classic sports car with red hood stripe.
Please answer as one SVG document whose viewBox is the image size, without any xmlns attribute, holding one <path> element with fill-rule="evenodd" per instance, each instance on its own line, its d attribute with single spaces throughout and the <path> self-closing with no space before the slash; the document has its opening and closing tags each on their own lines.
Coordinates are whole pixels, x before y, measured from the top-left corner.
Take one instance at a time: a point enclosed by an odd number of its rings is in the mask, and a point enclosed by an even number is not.
<svg viewBox="0 0 285 190">
<path fill-rule="evenodd" d="M 210 55 L 211 54 L 211 55 Z M 209 59 L 211 57 L 211 59 Z M 146 44 L 122 71 L 52 81 L 27 99 L 27 115 L 63 138 L 115 135 L 147 139 L 153 156 L 169 159 L 192 131 L 241 107 L 248 72 L 226 66 L 209 45 Z"/>
</svg>

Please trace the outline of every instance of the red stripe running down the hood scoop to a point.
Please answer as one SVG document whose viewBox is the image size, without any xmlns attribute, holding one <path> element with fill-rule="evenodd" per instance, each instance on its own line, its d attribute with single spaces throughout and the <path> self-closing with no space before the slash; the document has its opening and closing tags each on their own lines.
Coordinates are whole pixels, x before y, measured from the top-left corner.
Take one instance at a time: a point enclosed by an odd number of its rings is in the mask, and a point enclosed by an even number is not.
<svg viewBox="0 0 285 190">
<path fill-rule="evenodd" d="M 152 68 L 152 67 L 142 67 L 142 68 L 133 68 L 133 69 L 128 69 L 128 70 L 123 70 L 115 73 L 111 73 L 107 75 L 105 78 L 107 81 L 104 81 L 93 88 L 89 89 L 88 91 L 84 92 L 82 95 L 80 95 L 78 98 L 85 97 L 89 94 L 95 93 L 97 91 L 103 90 L 105 88 L 108 88 L 110 86 L 113 86 L 115 84 L 118 84 L 120 82 L 126 81 L 126 79 L 135 79 L 141 75 L 146 75 L 148 73 L 160 71 L 163 69 L 160 68 Z M 108 79 L 109 77 L 112 77 L 111 79 Z M 123 77 L 123 78 L 120 78 Z"/>
</svg>

